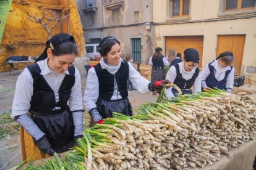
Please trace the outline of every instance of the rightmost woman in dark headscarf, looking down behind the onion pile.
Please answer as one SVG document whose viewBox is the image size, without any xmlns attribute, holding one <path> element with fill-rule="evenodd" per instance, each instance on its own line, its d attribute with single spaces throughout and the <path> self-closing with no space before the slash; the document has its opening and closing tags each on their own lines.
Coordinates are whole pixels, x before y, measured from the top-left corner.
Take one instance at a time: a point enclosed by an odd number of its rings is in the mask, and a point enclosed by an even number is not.
<svg viewBox="0 0 256 170">
<path fill-rule="evenodd" d="M 208 63 L 202 71 L 203 89 L 216 87 L 231 93 L 234 85 L 234 67 L 231 66 L 233 61 L 233 53 L 226 51 Z"/>
</svg>

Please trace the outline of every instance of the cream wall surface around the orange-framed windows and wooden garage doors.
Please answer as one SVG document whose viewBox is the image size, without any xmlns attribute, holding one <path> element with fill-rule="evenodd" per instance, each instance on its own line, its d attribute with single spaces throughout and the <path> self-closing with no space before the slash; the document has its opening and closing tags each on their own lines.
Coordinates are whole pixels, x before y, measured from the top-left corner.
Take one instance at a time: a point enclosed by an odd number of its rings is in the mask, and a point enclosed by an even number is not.
<svg viewBox="0 0 256 170">
<path fill-rule="evenodd" d="M 166 36 L 195 36 L 203 38 L 202 68 L 216 58 L 218 35 L 245 34 L 241 75 L 256 82 L 256 74 L 246 73 L 248 66 L 256 67 L 256 12 L 223 13 L 223 1 L 190 1 L 190 15 L 168 18 L 168 0 L 153 1 L 153 22 L 156 46 L 165 46 Z M 159 12 L 161 11 L 161 12 Z M 236 57 L 236 56 L 234 56 Z"/>
</svg>

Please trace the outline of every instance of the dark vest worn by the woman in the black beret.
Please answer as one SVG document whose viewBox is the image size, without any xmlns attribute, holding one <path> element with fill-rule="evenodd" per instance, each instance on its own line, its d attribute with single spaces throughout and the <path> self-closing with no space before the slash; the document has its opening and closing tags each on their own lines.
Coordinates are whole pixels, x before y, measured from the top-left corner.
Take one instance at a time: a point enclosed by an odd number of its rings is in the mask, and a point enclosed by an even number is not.
<svg viewBox="0 0 256 170">
<path fill-rule="evenodd" d="M 195 68 L 195 73 L 192 76 L 192 78 L 186 81 L 186 79 L 182 78 L 182 74 L 179 71 L 179 64 L 176 63 L 174 67 L 176 68 L 176 74 L 177 74 L 174 80 L 174 84 L 176 84 L 180 89 L 190 89 L 193 86 L 195 79 L 199 75 L 199 68 Z"/>
</svg>

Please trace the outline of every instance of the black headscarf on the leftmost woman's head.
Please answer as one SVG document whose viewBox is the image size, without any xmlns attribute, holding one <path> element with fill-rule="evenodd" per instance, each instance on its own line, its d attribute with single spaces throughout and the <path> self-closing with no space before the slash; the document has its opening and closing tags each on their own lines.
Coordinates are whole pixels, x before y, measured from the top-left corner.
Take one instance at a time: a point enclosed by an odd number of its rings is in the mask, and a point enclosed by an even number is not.
<svg viewBox="0 0 256 170">
<path fill-rule="evenodd" d="M 51 39 L 46 41 L 45 50 L 38 57 L 38 59 L 35 60 L 35 62 L 39 62 L 39 61 L 45 60 L 47 58 L 47 49 L 48 48 L 51 48 L 51 50 L 54 50 L 54 46 L 58 46 L 64 42 L 75 43 L 75 38 L 73 36 L 71 36 L 70 34 L 66 34 L 66 33 L 55 34 Z"/>
</svg>

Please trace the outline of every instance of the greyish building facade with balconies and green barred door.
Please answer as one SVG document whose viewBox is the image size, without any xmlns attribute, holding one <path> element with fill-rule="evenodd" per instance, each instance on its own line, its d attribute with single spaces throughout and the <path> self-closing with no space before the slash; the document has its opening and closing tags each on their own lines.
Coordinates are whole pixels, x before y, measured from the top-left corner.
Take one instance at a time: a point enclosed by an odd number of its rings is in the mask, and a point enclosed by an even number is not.
<svg viewBox="0 0 256 170">
<path fill-rule="evenodd" d="M 155 44 L 150 26 L 153 1 L 85 0 L 77 3 L 86 43 L 115 36 L 121 42 L 124 59 L 129 54 L 135 62 L 147 62 Z"/>
</svg>

